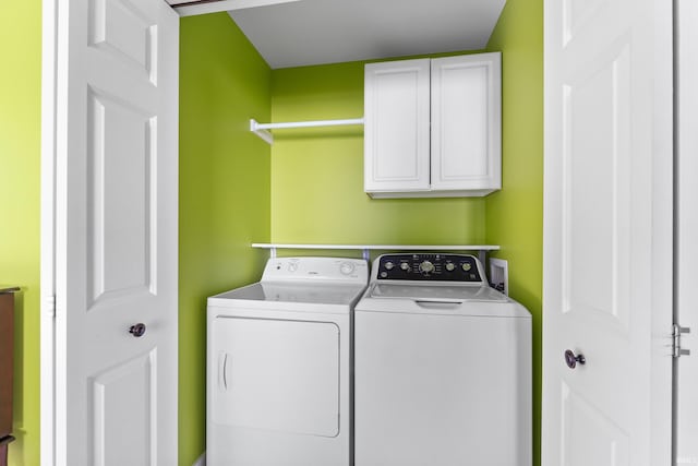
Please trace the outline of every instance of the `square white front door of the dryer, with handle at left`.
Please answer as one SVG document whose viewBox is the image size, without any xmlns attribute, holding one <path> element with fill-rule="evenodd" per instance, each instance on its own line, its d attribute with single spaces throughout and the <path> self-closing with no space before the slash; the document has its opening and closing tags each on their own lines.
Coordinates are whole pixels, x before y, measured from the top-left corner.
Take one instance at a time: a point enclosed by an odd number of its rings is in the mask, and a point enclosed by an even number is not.
<svg viewBox="0 0 698 466">
<path fill-rule="evenodd" d="M 213 422 L 339 433 L 339 327 L 332 322 L 217 318 Z"/>
</svg>

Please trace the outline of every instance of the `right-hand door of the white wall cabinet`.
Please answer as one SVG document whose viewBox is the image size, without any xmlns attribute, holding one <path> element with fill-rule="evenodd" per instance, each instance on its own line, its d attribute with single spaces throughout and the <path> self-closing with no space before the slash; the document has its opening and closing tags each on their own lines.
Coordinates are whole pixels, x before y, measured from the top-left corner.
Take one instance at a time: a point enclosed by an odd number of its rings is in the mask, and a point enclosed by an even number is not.
<svg viewBox="0 0 698 466">
<path fill-rule="evenodd" d="M 431 182 L 434 191 L 484 195 L 502 188 L 501 55 L 431 62 Z"/>
</svg>

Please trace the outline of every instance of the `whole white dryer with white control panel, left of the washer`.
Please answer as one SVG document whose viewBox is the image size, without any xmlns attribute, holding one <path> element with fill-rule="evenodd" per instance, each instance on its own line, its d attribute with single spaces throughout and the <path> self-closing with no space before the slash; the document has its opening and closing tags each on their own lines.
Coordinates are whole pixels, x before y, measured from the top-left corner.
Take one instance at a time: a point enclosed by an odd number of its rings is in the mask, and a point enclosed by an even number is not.
<svg viewBox="0 0 698 466">
<path fill-rule="evenodd" d="M 349 466 L 351 312 L 368 263 L 269 259 L 208 298 L 208 466 Z"/>
</svg>

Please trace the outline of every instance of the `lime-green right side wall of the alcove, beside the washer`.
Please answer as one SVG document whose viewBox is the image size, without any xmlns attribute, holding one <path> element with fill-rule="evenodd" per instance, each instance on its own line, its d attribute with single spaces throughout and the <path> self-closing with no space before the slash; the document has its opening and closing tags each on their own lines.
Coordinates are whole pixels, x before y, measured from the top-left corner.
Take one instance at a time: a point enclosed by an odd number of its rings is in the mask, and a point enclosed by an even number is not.
<svg viewBox="0 0 698 466">
<path fill-rule="evenodd" d="M 540 464 L 543 297 L 543 0 L 507 0 L 489 50 L 502 50 L 503 189 L 486 198 L 486 242 L 502 244 L 509 295 L 533 314 L 533 464 Z"/>
</svg>

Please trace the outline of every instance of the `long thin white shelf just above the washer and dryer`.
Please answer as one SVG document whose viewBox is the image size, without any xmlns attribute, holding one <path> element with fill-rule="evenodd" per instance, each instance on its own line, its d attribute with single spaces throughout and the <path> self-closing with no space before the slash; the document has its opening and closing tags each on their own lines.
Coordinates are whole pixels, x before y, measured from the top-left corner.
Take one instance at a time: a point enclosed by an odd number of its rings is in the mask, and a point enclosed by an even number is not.
<svg viewBox="0 0 698 466">
<path fill-rule="evenodd" d="M 277 249 L 326 249 L 362 251 L 363 259 L 370 259 L 370 251 L 478 251 L 480 262 L 484 264 L 489 251 L 498 251 L 496 244 L 292 244 L 253 242 L 252 248 L 268 249 L 276 258 Z"/>
</svg>

